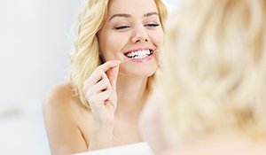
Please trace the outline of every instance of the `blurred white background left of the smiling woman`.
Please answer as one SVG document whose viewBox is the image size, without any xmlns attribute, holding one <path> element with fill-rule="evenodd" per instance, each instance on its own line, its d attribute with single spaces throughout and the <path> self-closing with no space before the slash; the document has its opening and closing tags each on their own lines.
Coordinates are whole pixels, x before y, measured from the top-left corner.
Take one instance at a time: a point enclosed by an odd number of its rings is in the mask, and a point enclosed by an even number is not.
<svg viewBox="0 0 266 155">
<path fill-rule="evenodd" d="M 43 98 L 67 78 L 82 3 L 0 1 L 0 154 L 50 154 Z"/>
</svg>

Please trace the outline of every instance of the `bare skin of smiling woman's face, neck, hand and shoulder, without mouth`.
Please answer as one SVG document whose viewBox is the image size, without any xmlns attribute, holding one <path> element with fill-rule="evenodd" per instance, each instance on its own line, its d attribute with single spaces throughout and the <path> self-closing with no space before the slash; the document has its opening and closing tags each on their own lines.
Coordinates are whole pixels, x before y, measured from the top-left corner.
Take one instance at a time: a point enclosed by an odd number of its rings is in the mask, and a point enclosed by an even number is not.
<svg viewBox="0 0 266 155">
<path fill-rule="evenodd" d="M 153 54 L 141 62 L 123 61 L 125 52 L 157 50 L 162 45 L 163 30 L 154 1 L 111 0 L 98 41 L 106 62 L 83 83 L 90 109 L 82 106 L 68 81 L 52 88 L 44 100 L 51 154 L 142 141 L 137 121 L 148 97 L 147 80 L 157 70 L 158 58 Z"/>
</svg>

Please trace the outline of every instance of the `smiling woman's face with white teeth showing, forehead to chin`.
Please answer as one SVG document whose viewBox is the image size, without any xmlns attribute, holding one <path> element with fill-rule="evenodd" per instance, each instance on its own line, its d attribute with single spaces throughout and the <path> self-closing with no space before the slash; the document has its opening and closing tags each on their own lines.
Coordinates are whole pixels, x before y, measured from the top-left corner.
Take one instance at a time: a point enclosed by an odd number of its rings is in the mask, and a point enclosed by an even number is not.
<svg viewBox="0 0 266 155">
<path fill-rule="evenodd" d="M 154 0 L 110 0 L 98 32 L 101 57 L 121 60 L 120 73 L 150 76 L 158 67 L 163 30 Z M 126 61 L 126 62 L 123 62 Z"/>
</svg>

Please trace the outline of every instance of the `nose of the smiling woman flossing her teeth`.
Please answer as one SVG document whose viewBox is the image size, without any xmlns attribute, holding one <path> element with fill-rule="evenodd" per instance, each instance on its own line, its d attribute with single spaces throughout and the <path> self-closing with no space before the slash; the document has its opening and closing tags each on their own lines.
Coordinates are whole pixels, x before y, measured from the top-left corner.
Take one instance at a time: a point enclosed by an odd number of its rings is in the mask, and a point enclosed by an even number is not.
<svg viewBox="0 0 266 155">
<path fill-rule="evenodd" d="M 143 25 L 134 28 L 131 41 L 132 43 L 138 43 L 138 42 L 142 43 L 149 41 L 149 36 Z"/>
</svg>

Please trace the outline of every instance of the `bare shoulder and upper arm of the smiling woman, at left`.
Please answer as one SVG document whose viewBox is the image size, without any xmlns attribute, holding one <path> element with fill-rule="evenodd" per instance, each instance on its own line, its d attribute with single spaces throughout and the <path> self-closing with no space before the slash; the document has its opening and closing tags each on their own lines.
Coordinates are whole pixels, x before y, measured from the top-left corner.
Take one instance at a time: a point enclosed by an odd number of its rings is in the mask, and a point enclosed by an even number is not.
<svg viewBox="0 0 266 155">
<path fill-rule="evenodd" d="M 43 119 L 51 154 L 87 150 L 92 126 L 90 111 L 75 95 L 70 82 L 59 83 L 48 92 L 43 101 Z"/>
</svg>

